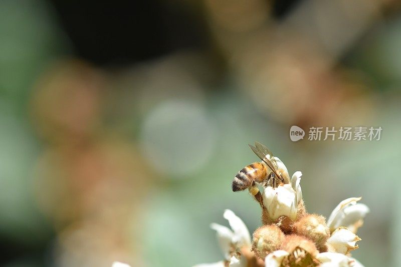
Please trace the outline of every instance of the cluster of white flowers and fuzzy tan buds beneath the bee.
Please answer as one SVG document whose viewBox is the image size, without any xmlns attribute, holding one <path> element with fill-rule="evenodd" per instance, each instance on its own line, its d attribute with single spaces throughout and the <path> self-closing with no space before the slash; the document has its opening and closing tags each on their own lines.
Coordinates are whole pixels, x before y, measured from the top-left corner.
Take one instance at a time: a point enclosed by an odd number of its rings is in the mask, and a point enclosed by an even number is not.
<svg viewBox="0 0 401 267">
<path fill-rule="evenodd" d="M 287 171 L 278 158 L 276 161 L 282 170 Z M 211 228 L 216 230 L 224 260 L 196 267 L 362 266 L 351 257 L 350 251 L 358 248 L 356 242 L 360 238 L 356 231 L 363 224 L 368 207 L 357 203 L 360 197 L 345 199 L 334 208 L 326 222 L 325 217 L 306 211 L 301 176 L 302 173 L 297 171 L 289 183 L 264 186 L 260 203 L 263 225 L 255 230 L 252 241 L 244 222 L 233 211 L 226 210 L 223 216 L 231 229 L 211 224 Z M 251 195 L 255 197 L 252 191 Z M 261 202 L 260 198 L 255 199 Z"/>
</svg>

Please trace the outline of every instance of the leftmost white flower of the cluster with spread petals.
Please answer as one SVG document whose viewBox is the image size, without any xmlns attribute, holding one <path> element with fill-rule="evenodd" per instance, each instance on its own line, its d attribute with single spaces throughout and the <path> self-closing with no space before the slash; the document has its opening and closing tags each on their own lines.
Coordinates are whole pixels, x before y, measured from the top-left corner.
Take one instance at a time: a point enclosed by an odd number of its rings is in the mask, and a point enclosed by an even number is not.
<svg viewBox="0 0 401 267">
<path fill-rule="evenodd" d="M 235 213 L 230 209 L 226 209 L 224 211 L 223 217 L 229 221 L 231 229 L 218 223 L 212 223 L 210 225 L 212 229 L 216 230 L 216 236 L 220 245 L 220 249 L 222 250 L 226 261 L 229 262 L 229 266 L 246 266 L 246 259 L 243 256 L 240 256 L 240 258 L 233 256 L 232 252 L 233 248 L 236 250 L 244 246 L 251 247 L 251 234 L 241 218 L 235 215 Z M 225 266 L 225 261 L 203 263 L 195 265 L 194 267 L 206 266 Z"/>
</svg>

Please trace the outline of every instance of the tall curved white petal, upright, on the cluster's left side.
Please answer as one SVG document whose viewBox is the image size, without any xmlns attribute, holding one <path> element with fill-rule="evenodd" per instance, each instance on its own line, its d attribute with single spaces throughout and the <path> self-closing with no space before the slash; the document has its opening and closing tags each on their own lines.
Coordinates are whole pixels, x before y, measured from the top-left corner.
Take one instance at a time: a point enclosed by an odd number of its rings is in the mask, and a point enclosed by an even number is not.
<svg viewBox="0 0 401 267">
<path fill-rule="evenodd" d="M 229 221 L 231 229 L 234 231 L 233 242 L 237 243 L 239 247 L 251 246 L 251 234 L 242 219 L 230 209 L 224 211 L 223 217 Z"/>
</svg>

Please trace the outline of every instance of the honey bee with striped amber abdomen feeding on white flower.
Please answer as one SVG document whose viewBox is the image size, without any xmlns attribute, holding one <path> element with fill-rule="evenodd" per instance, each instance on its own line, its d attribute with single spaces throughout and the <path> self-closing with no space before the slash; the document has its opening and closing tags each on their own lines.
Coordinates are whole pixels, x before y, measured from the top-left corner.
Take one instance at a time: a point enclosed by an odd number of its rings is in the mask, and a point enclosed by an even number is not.
<svg viewBox="0 0 401 267">
<path fill-rule="evenodd" d="M 255 142 L 255 146 L 249 145 L 254 153 L 262 160 L 254 162 L 240 170 L 233 180 L 233 191 L 249 189 L 252 195 L 257 197 L 259 189 L 256 183 L 270 185 L 276 188 L 280 183 L 290 183 L 288 171 L 284 164 L 279 167 L 278 158 L 263 144 Z M 281 164 L 280 164 L 281 165 Z"/>
</svg>

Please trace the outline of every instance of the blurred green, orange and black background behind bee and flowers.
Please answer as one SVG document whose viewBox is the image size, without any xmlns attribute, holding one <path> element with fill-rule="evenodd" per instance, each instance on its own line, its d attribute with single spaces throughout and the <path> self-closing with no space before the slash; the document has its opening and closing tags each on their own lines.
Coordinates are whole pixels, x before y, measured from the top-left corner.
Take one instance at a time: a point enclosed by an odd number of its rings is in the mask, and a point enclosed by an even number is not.
<svg viewBox="0 0 401 267">
<path fill-rule="evenodd" d="M 401 266 L 401 4 L 395 0 L 0 1 L 2 266 L 190 266 L 260 141 L 309 212 L 362 196 L 353 252 Z M 379 141 L 289 128 L 381 126 Z"/>
</svg>

